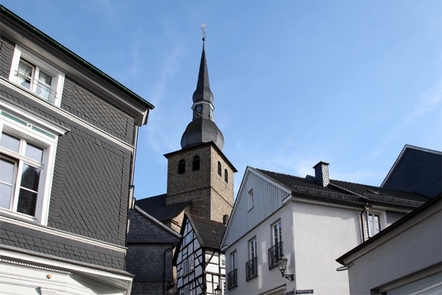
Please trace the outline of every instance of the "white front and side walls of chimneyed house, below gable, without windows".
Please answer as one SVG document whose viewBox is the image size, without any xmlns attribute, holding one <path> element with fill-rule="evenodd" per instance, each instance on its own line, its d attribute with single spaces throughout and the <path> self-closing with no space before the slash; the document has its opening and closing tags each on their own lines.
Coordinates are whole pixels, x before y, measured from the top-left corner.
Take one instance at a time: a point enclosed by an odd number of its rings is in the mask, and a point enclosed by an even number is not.
<svg viewBox="0 0 442 295">
<path fill-rule="evenodd" d="M 268 269 L 271 226 L 278 219 L 282 224 L 286 273 L 295 274 L 293 282 L 281 276 L 279 269 Z M 238 287 L 228 294 L 260 294 L 279 286 L 275 294 L 313 289 L 314 294 L 349 294 L 347 272 L 338 272 L 337 257 L 361 242 L 359 211 L 320 204 L 290 202 L 258 227 L 245 235 L 226 252 L 226 259 L 237 251 Z M 246 282 L 248 241 L 256 237 L 258 277 Z"/>
</svg>

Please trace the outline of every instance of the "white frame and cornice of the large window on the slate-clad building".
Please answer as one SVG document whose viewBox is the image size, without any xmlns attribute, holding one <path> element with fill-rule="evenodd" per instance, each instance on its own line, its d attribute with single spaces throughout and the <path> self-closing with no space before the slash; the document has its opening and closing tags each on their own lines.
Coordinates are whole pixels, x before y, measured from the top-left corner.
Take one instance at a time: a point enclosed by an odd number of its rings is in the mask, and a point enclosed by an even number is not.
<svg viewBox="0 0 442 295">
<path fill-rule="evenodd" d="M 58 137 L 66 131 L 3 102 L 0 103 L 0 139 L 1 134 L 5 132 L 44 149 L 35 216 L 16 212 L 15 208 L 0 208 L 2 215 L 47 225 Z M 2 147 L 0 152 L 18 160 L 22 157 Z"/>
</svg>

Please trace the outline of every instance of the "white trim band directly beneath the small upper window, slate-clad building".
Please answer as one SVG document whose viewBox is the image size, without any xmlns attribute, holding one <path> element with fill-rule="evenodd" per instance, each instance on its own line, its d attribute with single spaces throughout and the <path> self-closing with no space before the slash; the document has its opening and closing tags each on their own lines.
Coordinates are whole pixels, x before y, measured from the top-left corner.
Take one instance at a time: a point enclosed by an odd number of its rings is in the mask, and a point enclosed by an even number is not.
<svg viewBox="0 0 442 295">
<path fill-rule="evenodd" d="M 76 124 L 78 124 L 78 125 L 80 125 L 82 127 L 85 127 L 85 128 L 87 128 L 89 130 L 92 130 L 93 132 L 95 132 L 95 133 L 99 134 L 100 136 L 106 138 L 107 140 L 109 140 L 109 141 L 119 145 L 120 147 L 123 147 L 126 150 L 129 150 L 129 151 L 132 151 L 132 152 L 134 151 L 134 146 L 133 145 L 128 144 L 128 143 L 124 142 L 123 140 L 113 136 L 112 134 L 107 133 L 106 131 L 103 131 L 102 129 L 100 129 L 100 128 L 90 124 L 89 122 L 84 121 L 84 120 L 82 120 L 82 119 L 72 115 L 68 111 L 65 111 L 65 110 L 63 110 L 61 108 L 58 108 L 58 107 L 48 103 L 48 102 L 45 102 L 44 100 L 41 100 L 40 98 L 38 98 L 33 93 L 24 91 L 23 89 L 21 89 L 20 87 L 16 86 L 14 83 L 6 80 L 3 77 L 0 77 L 0 85 L 6 85 L 7 87 L 13 88 L 14 90 L 16 90 L 17 92 L 19 92 L 22 95 L 25 95 L 29 99 L 31 99 L 33 101 L 36 101 L 38 103 L 44 104 L 45 107 L 49 108 L 51 111 L 59 114 L 60 116 L 66 117 L 66 119 L 68 119 L 68 120 L 70 120 L 70 121 L 72 121 L 72 122 L 74 122 L 74 123 L 76 123 Z"/>
</svg>

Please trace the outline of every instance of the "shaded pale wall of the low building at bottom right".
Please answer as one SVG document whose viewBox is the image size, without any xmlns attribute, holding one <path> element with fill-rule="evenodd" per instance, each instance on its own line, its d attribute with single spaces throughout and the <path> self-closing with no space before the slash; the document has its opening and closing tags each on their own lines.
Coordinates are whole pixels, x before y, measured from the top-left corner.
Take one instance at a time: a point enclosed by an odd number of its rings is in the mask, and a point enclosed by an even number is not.
<svg viewBox="0 0 442 295">
<path fill-rule="evenodd" d="M 440 203 L 439 203 L 440 204 Z M 413 224 L 400 235 L 376 245 L 352 261 L 349 268 L 352 294 L 370 290 L 421 271 L 442 261 L 441 211 Z"/>
</svg>

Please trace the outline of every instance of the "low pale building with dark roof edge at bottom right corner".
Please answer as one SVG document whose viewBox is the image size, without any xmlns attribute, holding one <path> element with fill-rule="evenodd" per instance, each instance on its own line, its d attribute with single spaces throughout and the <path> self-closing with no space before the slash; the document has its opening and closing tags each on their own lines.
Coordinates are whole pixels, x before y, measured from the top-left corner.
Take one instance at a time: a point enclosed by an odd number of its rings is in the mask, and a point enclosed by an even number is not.
<svg viewBox="0 0 442 295">
<path fill-rule="evenodd" d="M 441 195 L 337 259 L 351 294 L 442 294 Z"/>
</svg>

